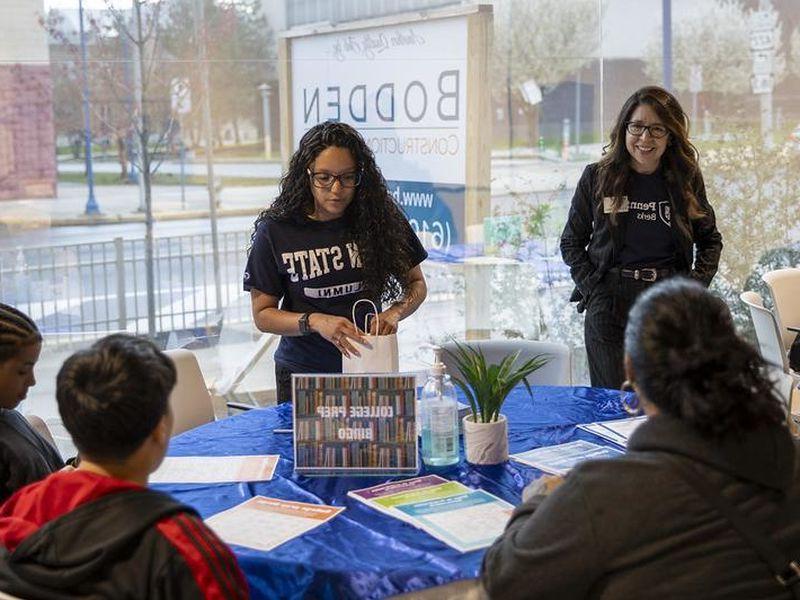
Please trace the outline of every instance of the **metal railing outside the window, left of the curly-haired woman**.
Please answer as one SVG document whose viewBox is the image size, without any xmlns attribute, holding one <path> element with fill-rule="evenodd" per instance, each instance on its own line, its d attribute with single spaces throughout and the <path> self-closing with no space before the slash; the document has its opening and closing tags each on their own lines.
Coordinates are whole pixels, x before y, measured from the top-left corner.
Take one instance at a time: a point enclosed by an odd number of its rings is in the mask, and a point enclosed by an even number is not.
<svg viewBox="0 0 800 600">
<path fill-rule="evenodd" d="M 223 306 L 216 306 L 211 235 L 155 239 L 157 333 L 250 319 L 242 272 L 250 234 L 219 236 Z M 66 339 L 85 332 L 147 333 L 143 239 L 0 250 L 0 301 L 29 314 L 43 332 Z M 228 308 L 231 306 L 231 308 Z"/>
</svg>

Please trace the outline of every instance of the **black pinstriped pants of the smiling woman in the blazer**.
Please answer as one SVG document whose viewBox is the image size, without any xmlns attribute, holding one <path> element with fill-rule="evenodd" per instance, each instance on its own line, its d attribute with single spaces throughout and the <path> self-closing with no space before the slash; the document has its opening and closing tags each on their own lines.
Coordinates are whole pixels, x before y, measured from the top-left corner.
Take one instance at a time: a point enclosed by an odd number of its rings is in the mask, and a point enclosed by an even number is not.
<svg viewBox="0 0 800 600">
<path fill-rule="evenodd" d="M 625 381 L 623 357 L 628 313 L 639 294 L 651 285 L 610 272 L 592 292 L 583 332 L 593 387 L 619 389 Z"/>
</svg>

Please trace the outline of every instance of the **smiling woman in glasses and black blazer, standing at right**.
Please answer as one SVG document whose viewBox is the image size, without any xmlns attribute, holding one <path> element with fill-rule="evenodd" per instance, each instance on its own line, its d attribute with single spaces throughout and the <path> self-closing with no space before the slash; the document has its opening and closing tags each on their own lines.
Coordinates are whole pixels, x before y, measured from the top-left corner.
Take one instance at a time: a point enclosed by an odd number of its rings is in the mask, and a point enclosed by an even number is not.
<svg viewBox="0 0 800 600">
<path fill-rule="evenodd" d="M 625 378 L 625 323 L 643 290 L 675 274 L 708 286 L 717 272 L 722 236 L 697 158 L 680 104 L 649 86 L 628 98 L 603 157 L 581 175 L 561 255 L 576 286 L 570 300 L 586 310 L 593 386 Z"/>
</svg>

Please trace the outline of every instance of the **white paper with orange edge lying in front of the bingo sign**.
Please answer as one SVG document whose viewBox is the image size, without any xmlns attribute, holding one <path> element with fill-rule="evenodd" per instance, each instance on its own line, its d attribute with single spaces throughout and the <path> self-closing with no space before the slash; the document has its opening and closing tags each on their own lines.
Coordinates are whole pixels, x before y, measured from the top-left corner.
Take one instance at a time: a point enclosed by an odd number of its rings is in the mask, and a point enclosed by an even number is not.
<svg viewBox="0 0 800 600">
<path fill-rule="evenodd" d="M 206 519 L 228 544 L 267 552 L 329 521 L 344 507 L 255 496 Z"/>
</svg>

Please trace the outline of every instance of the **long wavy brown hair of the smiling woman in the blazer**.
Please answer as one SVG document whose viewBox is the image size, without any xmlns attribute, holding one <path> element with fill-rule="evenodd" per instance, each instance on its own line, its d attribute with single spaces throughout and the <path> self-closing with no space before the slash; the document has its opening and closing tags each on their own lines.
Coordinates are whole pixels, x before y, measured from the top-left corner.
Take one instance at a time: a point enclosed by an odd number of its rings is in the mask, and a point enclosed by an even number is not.
<svg viewBox="0 0 800 600">
<path fill-rule="evenodd" d="M 622 205 L 622 197 L 626 194 L 632 171 L 631 155 L 625 146 L 625 128 L 633 111 L 641 104 L 651 107 L 669 131 L 667 147 L 661 157 L 664 178 L 670 187 L 680 190 L 689 218 L 702 218 L 705 212 L 694 193 L 702 182 L 702 175 L 697 162 L 699 153 L 689 141 L 689 117 L 683 112 L 675 96 L 658 86 L 636 90 L 622 105 L 611 130 L 611 139 L 603 147 L 603 156 L 598 162 L 598 202 L 602 203 L 606 197 L 613 198 L 611 221 L 616 223 L 616 215 Z M 682 226 L 680 223 L 679 225 Z"/>
</svg>

